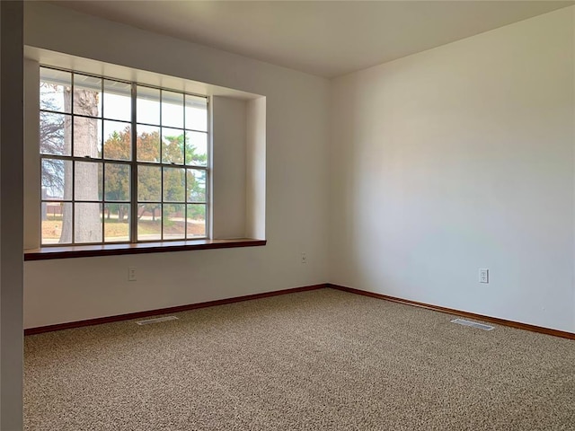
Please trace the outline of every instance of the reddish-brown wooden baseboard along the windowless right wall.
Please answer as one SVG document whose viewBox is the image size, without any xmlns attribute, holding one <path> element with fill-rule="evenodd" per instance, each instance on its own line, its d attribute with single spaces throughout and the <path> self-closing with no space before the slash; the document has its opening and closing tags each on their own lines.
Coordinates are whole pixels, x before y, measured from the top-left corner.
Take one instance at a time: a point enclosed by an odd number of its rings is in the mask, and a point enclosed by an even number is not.
<svg viewBox="0 0 575 431">
<path fill-rule="evenodd" d="M 438 305 L 432 305 L 430 303 L 418 303 L 417 301 L 410 301 L 409 299 L 402 299 L 389 295 L 376 294 L 374 292 L 367 292 L 365 290 L 354 289 L 346 286 L 332 285 L 331 283 L 328 283 L 327 287 L 342 290 L 344 292 L 349 292 L 351 294 L 371 296 L 373 298 L 384 299 L 385 301 L 391 301 L 394 303 L 403 303 L 415 307 L 426 308 L 428 310 L 433 310 L 435 312 L 446 312 L 447 314 L 453 314 L 456 316 L 466 317 L 469 319 L 476 319 L 478 321 L 488 321 L 490 323 L 495 323 L 503 326 L 510 326 L 511 328 L 517 328 L 519 330 L 531 330 L 533 332 L 539 332 L 541 334 L 553 335 L 554 337 L 562 337 L 563 339 L 575 339 L 575 333 L 567 332 L 564 330 L 552 330 L 541 326 L 529 325 L 527 323 L 520 323 L 518 321 L 508 321 L 505 319 L 499 319 L 497 317 L 484 316 L 482 314 L 476 314 L 474 312 L 462 312 L 460 310 L 454 310 L 452 308 L 447 307 L 440 307 Z"/>
</svg>

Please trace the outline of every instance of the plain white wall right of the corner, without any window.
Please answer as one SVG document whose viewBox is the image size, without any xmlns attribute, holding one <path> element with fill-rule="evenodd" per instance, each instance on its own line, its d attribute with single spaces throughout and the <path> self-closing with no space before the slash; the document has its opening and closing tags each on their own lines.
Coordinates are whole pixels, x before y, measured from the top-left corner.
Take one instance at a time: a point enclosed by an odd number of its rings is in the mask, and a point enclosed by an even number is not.
<svg viewBox="0 0 575 431">
<path fill-rule="evenodd" d="M 575 331 L 573 13 L 334 80 L 332 283 Z"/>
</svg>

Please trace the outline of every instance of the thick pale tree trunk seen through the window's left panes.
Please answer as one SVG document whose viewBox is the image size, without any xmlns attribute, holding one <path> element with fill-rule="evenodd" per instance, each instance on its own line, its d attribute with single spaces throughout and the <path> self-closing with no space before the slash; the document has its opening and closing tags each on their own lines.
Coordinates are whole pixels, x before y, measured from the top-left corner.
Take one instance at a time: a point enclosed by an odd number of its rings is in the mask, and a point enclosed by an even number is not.
<svg viewBox="0 0 575 431">
<path fill-rule="evenodd" d="M 74 112 L 76 114 L 97 116 L 98 93 L 88 90 L 75 90 Z M 65 92 L 65 104 L 69 109 L 70 92 Z M 88 155 L 98 157 L 98 123 L 93 119 L 75 118 L 74 123 L 74 155 Z M 72 124 L 66 118 L 65 123 L 66 154 L 70 154 L 72 147 Z M 76 164 L 76 187 L 82 188 L 85 200 L 98 200 L 98 163 Z M 64 172 L 65 196 L 72 197 L 73 175 L 71 167 L 66 166 Z M 72 211 L 74 211 L 75 226 L 72 225 Z M 102 242 L 102 218 L 100 204 L 75 204 L 75 208 L 63 208 L 62 235 L 60 242 L 72 242 L 72 229 L 74 229 L 74 242 Z"/>
</svg>

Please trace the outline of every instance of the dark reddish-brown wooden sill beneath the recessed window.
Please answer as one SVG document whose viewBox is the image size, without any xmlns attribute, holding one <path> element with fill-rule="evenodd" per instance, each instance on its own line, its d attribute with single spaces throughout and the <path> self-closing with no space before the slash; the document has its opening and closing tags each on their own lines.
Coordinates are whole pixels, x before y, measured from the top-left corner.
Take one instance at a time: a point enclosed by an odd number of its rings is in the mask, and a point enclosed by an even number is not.
<svg viewBox="0 0 575 431">
<path fill-rule="evenodd" d="M 251 238 L 239 238 L 234 240 L 138 242 L 134 244 L 69 245 L 26 250 L 24 251 L 24 260 L 92 258 L 96 256 L 118 256 L 121 254 L 233 249 L 236 247 L 259 247 L 262 245 L 266 245 L 266 240 L 254 240 Z"/>
</svg>

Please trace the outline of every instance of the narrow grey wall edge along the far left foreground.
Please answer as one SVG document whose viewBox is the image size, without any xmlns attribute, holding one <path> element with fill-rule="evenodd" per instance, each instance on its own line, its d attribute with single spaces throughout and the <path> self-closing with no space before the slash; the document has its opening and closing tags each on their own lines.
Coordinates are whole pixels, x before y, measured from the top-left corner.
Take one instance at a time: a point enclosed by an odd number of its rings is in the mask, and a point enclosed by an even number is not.
<svg viewBox="0 0 575 431">
<path fill-rule="evenodd" d="M 22 429 L 22 3 L 0 3 L 0 429 Z"/>
</svg>

